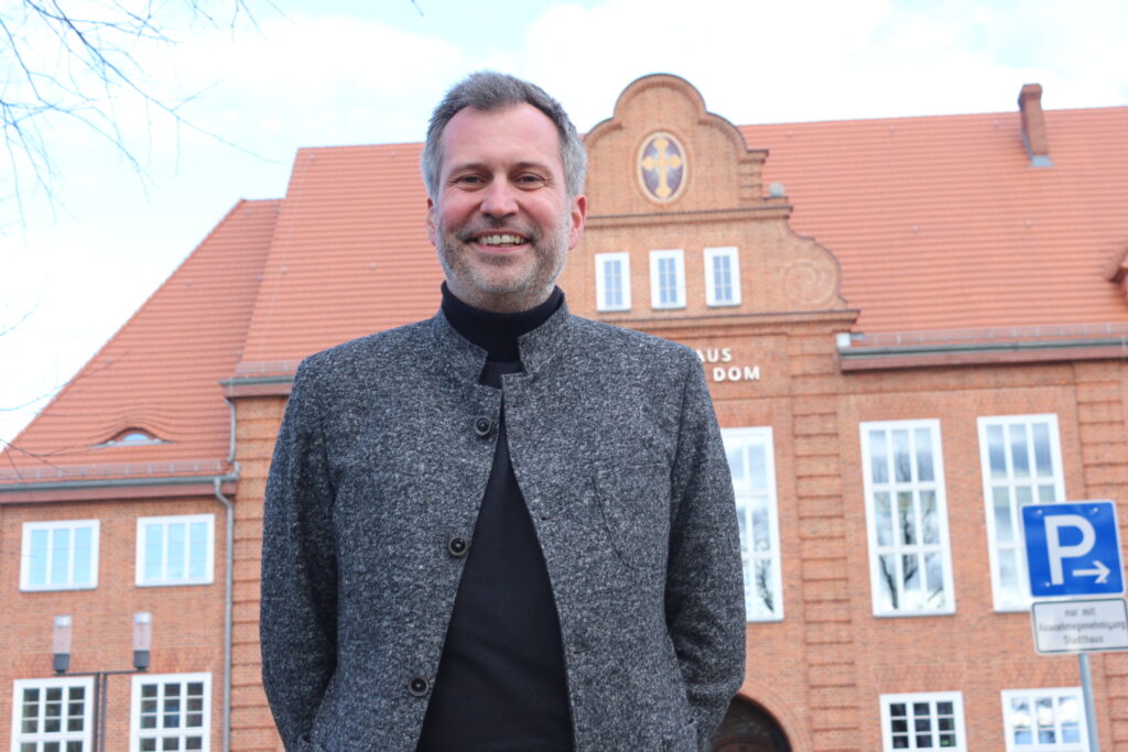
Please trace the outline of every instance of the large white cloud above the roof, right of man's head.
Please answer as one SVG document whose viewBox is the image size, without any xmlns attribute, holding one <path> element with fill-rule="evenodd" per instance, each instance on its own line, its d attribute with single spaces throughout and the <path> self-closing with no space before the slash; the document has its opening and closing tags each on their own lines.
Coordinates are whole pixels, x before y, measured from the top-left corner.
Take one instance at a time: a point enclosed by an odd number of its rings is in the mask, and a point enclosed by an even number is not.
<svg viewBox="0 0 1128 752">
<path fill-rule="evenodd" d="M 591 127 L 638 76 L 694 83 L 737 123 L 998 112 L 1039 81 L 1047 106 L 1128 100 L 1128 6 L 610 0 L 556 6 L 514 68 Z"/>
</svg>

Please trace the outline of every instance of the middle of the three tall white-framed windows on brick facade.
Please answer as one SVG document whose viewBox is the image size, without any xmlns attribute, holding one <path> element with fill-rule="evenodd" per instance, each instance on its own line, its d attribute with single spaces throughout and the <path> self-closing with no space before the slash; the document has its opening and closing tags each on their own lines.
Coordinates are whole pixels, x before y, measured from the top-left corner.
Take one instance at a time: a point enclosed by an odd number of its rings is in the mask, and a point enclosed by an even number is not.
<svg viewBox="0 0 1128 752">
<path fill-rule="evenodd" d="M 952 557 L 938 421 L 862 424 L 876 616 L 952 613 Z"/>
</svg>

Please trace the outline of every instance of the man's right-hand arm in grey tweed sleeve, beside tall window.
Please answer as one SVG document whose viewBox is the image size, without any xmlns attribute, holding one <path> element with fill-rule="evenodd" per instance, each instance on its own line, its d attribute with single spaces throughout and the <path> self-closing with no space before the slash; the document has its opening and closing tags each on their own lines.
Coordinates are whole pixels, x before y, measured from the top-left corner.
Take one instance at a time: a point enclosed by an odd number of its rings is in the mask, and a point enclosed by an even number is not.
<svg viewBox="0 0 1128 752">
<path fill-rule="evenodd" d="M 672 493 L 666 623 L 704 747 L 743 681 L 744 599 L 732 477 L 696 359 L 682 395 Z"/>
</svg>

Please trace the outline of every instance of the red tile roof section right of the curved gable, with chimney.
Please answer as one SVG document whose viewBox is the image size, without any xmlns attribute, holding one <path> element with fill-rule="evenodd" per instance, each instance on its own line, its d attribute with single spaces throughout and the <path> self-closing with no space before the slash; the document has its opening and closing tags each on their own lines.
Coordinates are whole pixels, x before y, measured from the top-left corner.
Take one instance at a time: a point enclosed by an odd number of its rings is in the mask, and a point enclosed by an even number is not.
<svg viewBox="0 0 1128 752">
<path fill-rule="evenodd" d="M 1128 107 L 1046 113 L 1034 168 L 1017 112 L 741 131 L 769 149 L 791 224 L 843 265 L 865 333 L 1128 321 Z"/>
</svg>

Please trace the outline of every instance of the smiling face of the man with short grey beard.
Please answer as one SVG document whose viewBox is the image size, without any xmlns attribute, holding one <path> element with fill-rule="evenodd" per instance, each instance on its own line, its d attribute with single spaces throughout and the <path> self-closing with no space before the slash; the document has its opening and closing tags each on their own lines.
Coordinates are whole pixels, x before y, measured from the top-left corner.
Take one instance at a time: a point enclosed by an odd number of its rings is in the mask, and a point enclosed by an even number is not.
<svg viewBox="0 0 1128 752">
<path fill-rule="evenodd" d="M 512 312 L 547 300 L 585 213 L 583 196 L 567 197 L 556 126 L 536 107 L 467 107 L 447 123 L 426 230 L 464 302 Z"/>
</svg>

